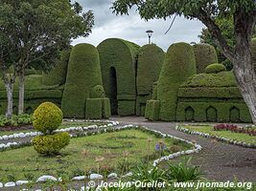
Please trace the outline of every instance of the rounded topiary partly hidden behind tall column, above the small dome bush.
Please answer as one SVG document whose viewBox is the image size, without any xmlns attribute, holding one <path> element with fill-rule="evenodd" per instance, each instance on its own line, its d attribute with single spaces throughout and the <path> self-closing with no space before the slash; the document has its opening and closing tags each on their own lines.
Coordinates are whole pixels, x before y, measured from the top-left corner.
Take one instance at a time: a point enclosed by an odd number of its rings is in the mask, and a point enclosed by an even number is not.
<svg viewBox="0 0 256 191">
<path fill-rule="evenodd" d="M 196 44 L 193 47 L 196 56 L 197 74 L 204 73 L 208 65 L 218 63 L 218 56 L 212 45 Z"/>
</svg>

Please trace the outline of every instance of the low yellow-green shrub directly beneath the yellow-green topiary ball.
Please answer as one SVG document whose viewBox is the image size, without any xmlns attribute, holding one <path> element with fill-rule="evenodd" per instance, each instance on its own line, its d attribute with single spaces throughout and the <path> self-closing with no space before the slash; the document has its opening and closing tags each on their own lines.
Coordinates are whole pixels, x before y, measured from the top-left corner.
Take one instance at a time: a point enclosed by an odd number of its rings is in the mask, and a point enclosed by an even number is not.
<svg viewBox="0 0 256 191">
<path fill-rule="evenodd" d="M 70 142 L 68 133 L 58 133 L 55 135 L 37 136 L 33 138 L 32 143 L 37 153 L 42 155 L 58 155 L 59 151 Z"/>
</svg>

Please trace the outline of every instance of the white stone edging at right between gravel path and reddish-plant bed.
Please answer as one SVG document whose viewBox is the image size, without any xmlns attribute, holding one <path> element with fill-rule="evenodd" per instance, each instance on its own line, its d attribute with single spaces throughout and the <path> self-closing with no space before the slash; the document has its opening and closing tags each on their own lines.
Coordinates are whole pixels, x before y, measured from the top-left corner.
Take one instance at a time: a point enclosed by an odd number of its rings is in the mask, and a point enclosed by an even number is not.
<svg viewBox="0 0 256 191">
<path fill-rule="evenodd" d="M 243 146 L 243 147 L 252 148 L 252 149 L 256 148 L 256 144 L 246 143 L 244 141 L 238 141 L 238 140 L 230 139 L 230 138 L 221 138 L 221 137 L 210 135 L 210 134 L 207 134 L 207 133 L 202 133 L 202 132 L 190 130 L 190 129 L 187 129 L 187 128 L 181 126 L 181 125 L 177 125 L 175 127 L 175 129 L 177 131 L 180 131 L 180 132 L 183 132 L 183 133 L 186 133 L 186 134 L 198 135 L 198 136 L 204 137 L 204 138 L 216 138 L 219 141 L 226 142 L 226 143 L 229 143 L 229 144 L 234 144 L 234 145 Z"/>
</svg>

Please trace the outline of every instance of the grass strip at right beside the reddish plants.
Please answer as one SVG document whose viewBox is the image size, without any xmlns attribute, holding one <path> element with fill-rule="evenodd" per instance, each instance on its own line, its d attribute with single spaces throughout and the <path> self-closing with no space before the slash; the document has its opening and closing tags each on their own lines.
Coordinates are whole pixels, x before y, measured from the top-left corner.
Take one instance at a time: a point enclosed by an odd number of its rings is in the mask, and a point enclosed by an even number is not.
<svg viewBox="0 0 256 191">
<path fill-rule="evenodd" d="M 221 138 L 229 138 L 229 139 L 234 139 L 238 141 L 244 141 L 246 143 L 256 144 L 255 136 L 249 136 L 247 134 L 241 134 L 241 133 L 233 133 L 231 131 L 215 131 L 213 126 L 185 126 L 185 128 L 193 131 L 198 131 L 198 132 L 218 136 Z"/>
</svg>

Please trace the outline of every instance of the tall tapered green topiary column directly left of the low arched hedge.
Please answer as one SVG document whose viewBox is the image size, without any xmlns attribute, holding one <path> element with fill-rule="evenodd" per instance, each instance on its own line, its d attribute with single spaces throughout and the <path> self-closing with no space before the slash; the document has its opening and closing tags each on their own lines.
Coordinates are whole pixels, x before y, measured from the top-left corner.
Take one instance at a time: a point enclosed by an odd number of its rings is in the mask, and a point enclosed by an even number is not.
<svg viewBox="0 0 256 191">
<path fill-rule="evenodd" d="M 193 74 L 196 74 L 193 47 L 187 43 L 173 44 L 166 54 L 157 85 L 157 98 L 160 101 L 159 118 L 161 120 L 175 120 L 177 89 Z"/>
</svg>

